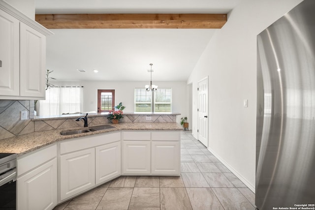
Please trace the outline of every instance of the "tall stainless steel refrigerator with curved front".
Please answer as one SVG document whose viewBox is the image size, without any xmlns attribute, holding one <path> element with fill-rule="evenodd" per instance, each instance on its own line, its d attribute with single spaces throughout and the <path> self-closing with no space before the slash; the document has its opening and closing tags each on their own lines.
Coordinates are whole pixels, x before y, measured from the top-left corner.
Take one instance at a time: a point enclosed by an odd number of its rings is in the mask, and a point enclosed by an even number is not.
<svg viewBox="0 0 315 210">
<path fill-rule="evenodd" d="M 314 210 L 315 0 L 257 36 L 256 129 L 257 208 Z"/>
</svg>

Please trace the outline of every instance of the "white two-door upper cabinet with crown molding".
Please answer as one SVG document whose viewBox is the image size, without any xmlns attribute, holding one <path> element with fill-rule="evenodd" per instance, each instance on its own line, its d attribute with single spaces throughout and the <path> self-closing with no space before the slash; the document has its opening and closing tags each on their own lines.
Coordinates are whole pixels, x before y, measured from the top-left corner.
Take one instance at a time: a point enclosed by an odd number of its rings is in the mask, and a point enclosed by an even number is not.
<svg viewBox="0 0 315 210">
<path fill-rule="evenodd" d="M 51 34 L 0 0 L 0 99 L 45 99 L 46 35 Z"/>
</svg>

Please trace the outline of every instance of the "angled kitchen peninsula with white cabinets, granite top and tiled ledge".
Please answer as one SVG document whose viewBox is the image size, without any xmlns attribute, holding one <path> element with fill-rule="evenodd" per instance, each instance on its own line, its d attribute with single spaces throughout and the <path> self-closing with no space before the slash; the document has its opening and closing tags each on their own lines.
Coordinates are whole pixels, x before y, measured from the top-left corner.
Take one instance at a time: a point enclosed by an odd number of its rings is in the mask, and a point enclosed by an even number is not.
<svg viewBox="0 0 315 210">
<path fill-rule="evenodd" d="M 1 152 L 18 153 L 18 209 L 53 209 L 120 176 L 180 176 L 182 127 L 176 115 L 130 113 L 124 114 L 129 122 L 114 125 L 104 115 L 91 115 L 86 128 L 75 121 L 78 116 L 33 119 L 35 129 L 49 130 L 0 141 Z M 115 127 L 91 129 L 104 124 Z M 89 132 L 61 135 L 69 130 Z"/>
</svg>

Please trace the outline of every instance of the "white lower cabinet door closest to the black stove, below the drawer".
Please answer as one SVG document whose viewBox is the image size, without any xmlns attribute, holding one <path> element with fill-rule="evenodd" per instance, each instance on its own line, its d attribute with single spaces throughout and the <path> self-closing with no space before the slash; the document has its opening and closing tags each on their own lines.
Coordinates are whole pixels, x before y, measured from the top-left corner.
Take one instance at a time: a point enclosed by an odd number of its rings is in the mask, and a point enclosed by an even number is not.
<svg viewBox="0 0 315 210">
<path fill-rule="evenodd" d="M 57 158 L 17 179 L 17 209 L 52 210 L 57 205 Z"/>
</svg>

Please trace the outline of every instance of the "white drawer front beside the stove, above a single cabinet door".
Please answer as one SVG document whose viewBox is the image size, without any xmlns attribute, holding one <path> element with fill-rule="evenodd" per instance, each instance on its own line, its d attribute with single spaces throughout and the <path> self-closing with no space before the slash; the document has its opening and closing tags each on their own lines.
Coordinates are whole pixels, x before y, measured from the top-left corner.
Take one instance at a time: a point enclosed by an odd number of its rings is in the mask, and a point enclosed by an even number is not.
<svg viewBox="0 0 315 210">
<path fill-rule="evenodd" d="M 53 159 L 57 156 L 57 145 L 37 151 L 36 153 L 27 154 L 17 159 L 17 176 L 30 171 L 31 169 Z"/>
</svg>

